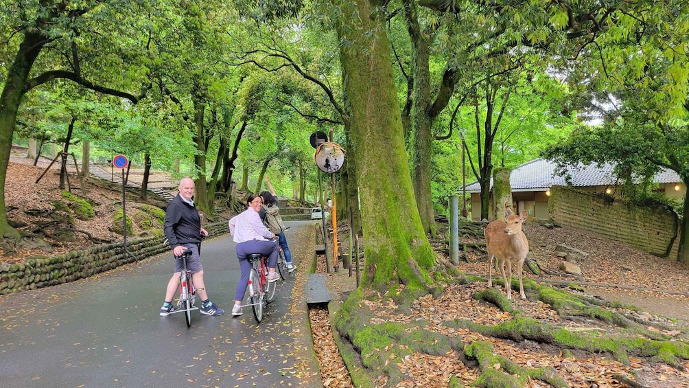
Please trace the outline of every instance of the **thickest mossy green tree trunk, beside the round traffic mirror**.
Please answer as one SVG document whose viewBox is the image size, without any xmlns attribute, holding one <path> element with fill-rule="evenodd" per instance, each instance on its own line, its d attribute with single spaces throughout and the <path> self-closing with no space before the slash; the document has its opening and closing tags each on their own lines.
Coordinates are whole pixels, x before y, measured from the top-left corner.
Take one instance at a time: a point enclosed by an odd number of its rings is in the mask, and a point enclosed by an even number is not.
<svg viewBox="0 0 689 388">
<path fill-rule="evenodd" d="M 342 11 L 338 38 L 351 43 L 340 45 L 340 59 L 360 174 L 367 258 L 362 285 L 387 292 L 405 284 L 426 292 L 435 258 L 414 201 L 382 3 L 332 1 Z"/>
</svg>

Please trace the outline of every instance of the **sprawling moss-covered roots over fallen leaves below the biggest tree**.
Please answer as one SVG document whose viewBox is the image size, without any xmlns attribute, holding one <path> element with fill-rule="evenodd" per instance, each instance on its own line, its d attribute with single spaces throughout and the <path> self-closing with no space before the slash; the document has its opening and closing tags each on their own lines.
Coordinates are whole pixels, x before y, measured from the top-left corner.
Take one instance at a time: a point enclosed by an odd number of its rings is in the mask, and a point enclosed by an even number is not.
<svg viewBox="0 0 689 388">
<path fill-rule="evenodd" d="M 446 267 L 445 265 L 440 271 L 451 272 Z M 467 276 L 460 279 L 462 282 L 471 281 Z M 516 286 L 518 285 L 515 284 Z M 454 329 L 468 329 L 486 337 L 515 342 L 531 340 L 553 345 L 562 349 L 564 354 L 569 353 L 570 349 L 590 354 L 610 354 L 626 365 L 630 363 L 630 357 L 641 357 L 684 370 L 683 362 L 689 360 L 689 343 L 677 340 L 679 337 L 676 334 L 672 337 L 661 331 L 649 330 L 647 325 L 639 325 L 637 321 L 623 314 L 606 309 L 609 304 L 604 300 L 569 294 L 526 279 L 524 288 L 532 299 L 539 298 L 551 304 L 561 316 L 595 318 L 608 325 L 615 325 L 615 328 L 608 334 L 601 334 L 599 330 L 570 330 L 525 318 L 521 316 L 520 310 L 515 309 L 513 303 L 507 300 L 504 293 L 497 289 L 486 289 L 475 294 L 475 298 L 492 303 L 504 312 L 511 312 L 513 319 L 499 325 L 481 325 L 471 320 L 455 319 L 442 325 Z M 416 294 L 411 291 L 401 287 L 396 294 L 375 294 L 371 298 L 391 298 L 406 303 L 412 300 L 411 294 Z M 371 381 L 380 381 L 381 373 L 387 379 L 385 385 L 398 385 L 409 378 L 407 372 L 400 367 L 404 365 L 407 356 L 444 356 L 453 351 L 465 365 L 479 367 L 480 376 L 474 383 L 477 387 L 524 387 L 528 379 L 541 380 L 553 387 L 569 387 L 566 380 L 560 377 L 553 367 L 522 367 L 505 356 L 494 354 L 491 343 L 478 341 L 467 344 L 460 337 L 426 329 L 426 325 L 430 323 L 424 319 L 413 320 L 413 323 L 382 320 L 369 309 L 369 302 L 364 300 L 365 298 L 367 296 L 362 294 L 361 289 L 356 289 L 333 320 L 338 339 L 346 344 L 340 345 L 340 351 L 348 352 L 345 359 L 350 371 L 354 371 L 350 375 L 357 387 L 372 386 Z M 414 314 L 414 308 L 411 305 L 400 304 L 395 314 L 408 316 Z M 352 365 L 353 363 L 356 365 Z M 623 374 L 617 378 L 630 387 L 648 387 L 646 382 L 633 376 Z M 462 382 L 458 378 L 449 378 L 448 383 L 450 387 L 462 387 Z"/>
</svg>

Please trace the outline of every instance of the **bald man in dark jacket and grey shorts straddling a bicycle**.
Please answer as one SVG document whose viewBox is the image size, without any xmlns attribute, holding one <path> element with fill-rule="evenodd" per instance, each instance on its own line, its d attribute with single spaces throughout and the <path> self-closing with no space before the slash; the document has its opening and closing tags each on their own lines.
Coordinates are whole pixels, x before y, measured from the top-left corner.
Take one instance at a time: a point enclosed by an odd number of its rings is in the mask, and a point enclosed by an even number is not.
<svg viewBox="0 0 689 388">
<path fill-rule="evenodd" d="M 177 291 L 179 276 L 183 270 L 181 256 L 185 249 L 192 251 L 192 256 L 187 259 L 187 269 L 192 272 L 196 294 L 201 298 L 201 314 L 225 314 L 223 309 L 218 308 L 215 303 L 208 299 L 203 283 L 203 267 L 201 267 L 199 249 L 201 239 L 208 236 L 208 232 L 201 227 L 201 218 L 194 206 L 194 180 L 192 178 L 182 178 L 179 182 L 179 194 L 167 205 L 163 232 L 165 232 L 167 241 L 172 247 L 172 254 L 175 257 L 175 272 L 167 282 L 161 316 L 168 316 L 177 311 L 177 307 L 172 304 L 172 298 Z"/>
</svg>

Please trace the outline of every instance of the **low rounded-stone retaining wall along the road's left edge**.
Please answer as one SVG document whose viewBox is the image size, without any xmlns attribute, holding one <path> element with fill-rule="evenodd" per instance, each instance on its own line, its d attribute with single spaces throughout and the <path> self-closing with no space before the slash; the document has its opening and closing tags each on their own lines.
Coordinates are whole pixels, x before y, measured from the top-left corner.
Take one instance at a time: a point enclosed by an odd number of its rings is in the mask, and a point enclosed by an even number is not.
<svg viewBox="0 0 689 388">
<path fill-rule="evenodd" d="M 209 237 L 228 232 L 227 221 L 206 225 Z M 127 239 L 129 249 L 139 261 L 171 252 L 160 237 Z M 88 278 L 136 261 L 124 249 L 124 243 L 94 245 L 61 256 L 27 258 L 23 264 L 0 265 L 0 295 L 68 283 Z"/>
</svg>

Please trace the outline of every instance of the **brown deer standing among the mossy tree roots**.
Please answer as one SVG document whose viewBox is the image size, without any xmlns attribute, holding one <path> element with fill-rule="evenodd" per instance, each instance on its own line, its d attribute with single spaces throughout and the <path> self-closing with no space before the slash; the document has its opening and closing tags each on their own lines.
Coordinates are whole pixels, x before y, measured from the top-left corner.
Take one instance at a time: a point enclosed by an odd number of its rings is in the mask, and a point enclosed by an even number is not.
<svg viewBox="0 0 689 388">
<path fill-rule="evenodd" d="M 522 232 L 522 224 L 526 221 L 526 212 L 522 212 L 521 216 L 517 216 L 512 214 L 512 211 L 507 208 L 505 216 L 507 217 L 506 222 L 493 220 L 486 226 L 484 232 L 486 236 L 486 250 L 488 251 L 488 287 L 493 287 L 491 271 L 493 269 L 493 258 L 495 258 L 497 259 L 498 267 L 500 267 L 502 279 L 505 282 L 507 298 L 512 300 L 512 265 L 516 264 L 520 296 L 523 300 L 526 300 L 524 284 L 522 283 L 522 267 L 524 267 L 524 259 L 526 259 L 526 254 L 528 253 L 528 240 L 526 240 L 526 235 Z M 507 274 L 505 274 L 505 267 L 507 267 Z"/>
</svg>

